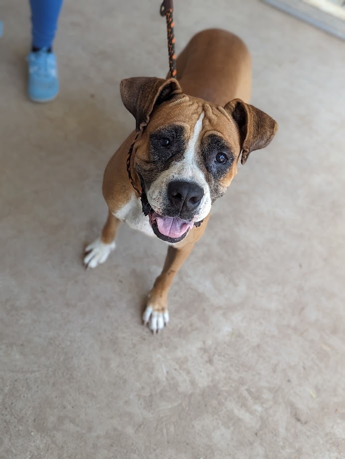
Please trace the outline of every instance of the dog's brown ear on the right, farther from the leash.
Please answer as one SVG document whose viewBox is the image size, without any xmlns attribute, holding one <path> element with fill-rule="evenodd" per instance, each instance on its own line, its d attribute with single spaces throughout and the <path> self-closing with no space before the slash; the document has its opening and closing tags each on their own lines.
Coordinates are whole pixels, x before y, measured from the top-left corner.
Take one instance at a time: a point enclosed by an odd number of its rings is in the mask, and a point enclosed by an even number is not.
<svg viewBox="0 0 345 459">
<path fill-rule="evenodd" d="M 264 148 L 270 143 L 277 132 L 278 124 L 269 115 L 241 99 L 231 100 L 224 109 L 238 126 L 242 149 L 241 163 L 244 164 L 252 151 Z"/>
</svg>

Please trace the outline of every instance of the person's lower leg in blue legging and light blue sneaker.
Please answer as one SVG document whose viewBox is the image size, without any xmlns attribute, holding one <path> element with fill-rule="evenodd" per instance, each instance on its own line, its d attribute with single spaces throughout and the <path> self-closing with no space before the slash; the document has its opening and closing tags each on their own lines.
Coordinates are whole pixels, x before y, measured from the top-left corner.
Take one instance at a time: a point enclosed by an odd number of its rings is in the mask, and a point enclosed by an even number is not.
<svg viewBox="0 0 345 459">
<path fill-rule="evenodd" d="M 59 92 L 52 44 L 63 0 L 30 0 L 32 50 L 28 61 L 28 95 L 35 102 L 48 102 Z"/>
</svg>

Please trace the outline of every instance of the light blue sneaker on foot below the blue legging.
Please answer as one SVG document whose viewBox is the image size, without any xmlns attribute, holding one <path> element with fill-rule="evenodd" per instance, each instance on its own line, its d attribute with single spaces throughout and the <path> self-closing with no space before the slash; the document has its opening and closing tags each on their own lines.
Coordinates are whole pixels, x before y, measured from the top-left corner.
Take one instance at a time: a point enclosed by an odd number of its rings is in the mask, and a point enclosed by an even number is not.
<svg viewBox="0 0 345 459">
<path fill-rule="evenodd" d="M 26 60 L 29 70 L 27 85 L 29 98 L 34 102 L 49 102 L 55 99 L 59 92 L 55 54 L 42 48 L 30 52 Z"/>
</svg>

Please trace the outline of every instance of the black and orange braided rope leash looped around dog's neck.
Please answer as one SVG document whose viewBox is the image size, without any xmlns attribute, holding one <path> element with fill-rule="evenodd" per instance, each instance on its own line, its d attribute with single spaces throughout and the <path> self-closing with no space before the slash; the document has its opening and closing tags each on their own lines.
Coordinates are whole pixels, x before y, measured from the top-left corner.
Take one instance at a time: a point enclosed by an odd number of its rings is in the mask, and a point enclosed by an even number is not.
<svg viewBox="0 0 345 459">
<path fill-rule="evenodd" d="M 166 16 L 167 18 L 167 31 L 168 31 L 168 51 L 169 51 L 169 68 L 170 68 L 170 75 L 172 78 L 176 78 L 176 55 L 175 55 L 175 37 L 173 34 L 173 18 L 172 18 L 172 13 L 173 13 L 173 2 L 172 0 L 164 0 L 162 5 L 161 5 L 161 16 Z M 136 190 L 138 193 L 139 197 L 142 197 L 142 192 L 136 187 L 136 184 L 133 180 L 132 173 L 131 173 L 131 158 L 132 158 L 132 153 L 133 153 L 133 148 L 134 144 L 139 136 L 139 133 L 135 136 L 135 139 L 130 146 L 130 149 L 128 151 L 127 155 L 127 172 L 128 172 L 128 178 L 129 181 L 131 182 L 133 188 Z"/>
</svg>

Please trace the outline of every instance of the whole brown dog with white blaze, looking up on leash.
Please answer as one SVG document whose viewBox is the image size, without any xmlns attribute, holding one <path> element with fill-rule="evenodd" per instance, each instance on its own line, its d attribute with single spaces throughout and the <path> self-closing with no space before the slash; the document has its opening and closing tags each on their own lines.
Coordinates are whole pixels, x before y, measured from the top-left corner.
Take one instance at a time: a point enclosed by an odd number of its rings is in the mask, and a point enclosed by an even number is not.
<svg viewBox="0 0 345 459">
<path fill-rule="evenodd" d="M 202 236 L 212 203 L 236 175 L 241 153 L 244 164 L 277 130 L 270 116 L 247 103 L 251 60 L 237 36 L 217 29 L 199 32 L 176 66 L 178 81 L 137 77 L 121 82 L 121 97 L 136 119 L 136 131 L 106 167 L 108 220 L 84 259 L 91 268 L 104 263 L 122 221 L 169 244 L 143 315 L 154 333 L 169 321 L 173 277 Z M 131 183 L 126 161 L 133 142 Z"/>
</svg>

